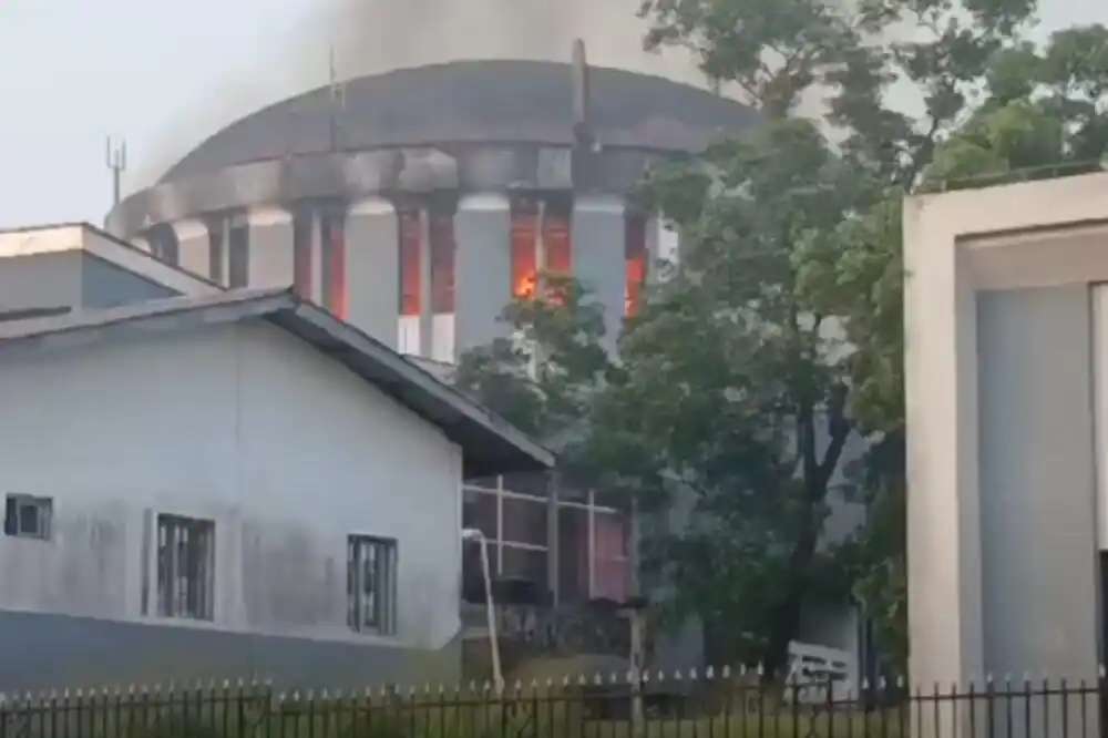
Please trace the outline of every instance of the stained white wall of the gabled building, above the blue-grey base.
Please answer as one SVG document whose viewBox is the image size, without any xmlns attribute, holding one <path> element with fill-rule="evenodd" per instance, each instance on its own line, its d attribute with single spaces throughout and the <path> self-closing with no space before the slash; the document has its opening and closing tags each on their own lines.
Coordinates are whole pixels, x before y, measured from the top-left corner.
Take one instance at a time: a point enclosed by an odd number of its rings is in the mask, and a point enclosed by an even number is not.
<svg viewBox="0 0 1108 738">
<path fill-rule="evenodd" d="M 398 540 L 380 640 L 456 633 L 460 450 L 307 345 L 242 324 L 0 359 L 2 491 L 54 500 L 51 542 L 0 536 L 0 608 L 143 619 L 151 509 L 216 521 L 215 623 L 195 627 L 373 639 L 346 626 L 362 533 Z"/>
</svg>

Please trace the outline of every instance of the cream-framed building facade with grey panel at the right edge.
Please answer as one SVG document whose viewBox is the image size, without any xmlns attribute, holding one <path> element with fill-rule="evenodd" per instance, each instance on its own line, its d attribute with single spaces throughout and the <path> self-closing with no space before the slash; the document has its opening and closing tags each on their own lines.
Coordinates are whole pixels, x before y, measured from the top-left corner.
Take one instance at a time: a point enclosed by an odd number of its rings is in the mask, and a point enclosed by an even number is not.
<svg viewBox="0 0 1108 738">
<path fill-rule="evenodd" d="M 1097 173 L 905 203 L 917 684 L 1044 674 L 1077 684 L 1102 673 L 1106 193 L 1108 174 Z M 1007 730 L 1045 736 L 1068 719 L 1096 732 L 1104 716 L 1096 700 L 1071 700 L 1068 716 L 1049 709 Z M 973 735 L 966 715 L 935 720 L 923 732 Z"/>
</svg>

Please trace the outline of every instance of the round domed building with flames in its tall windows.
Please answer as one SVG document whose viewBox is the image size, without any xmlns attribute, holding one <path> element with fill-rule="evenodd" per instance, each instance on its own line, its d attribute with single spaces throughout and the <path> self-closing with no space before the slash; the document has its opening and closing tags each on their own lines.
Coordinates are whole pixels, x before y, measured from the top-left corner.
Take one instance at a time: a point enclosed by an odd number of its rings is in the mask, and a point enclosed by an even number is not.
<svg viewBox="0 0 1108 738">
<path fill-rule="evenodd" d="M 453 361 L 541 269 L 575 275 L 613 335 L 675 237 L 626 201 L 645 167 L 751 125 L 660 78 L 466 61 L 332 84 L 212 135 L 107 227 L 226 286 L 294 284 L 401 351 Z"/>
</svg>

